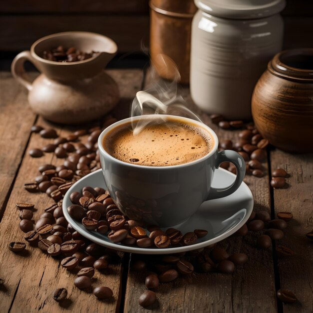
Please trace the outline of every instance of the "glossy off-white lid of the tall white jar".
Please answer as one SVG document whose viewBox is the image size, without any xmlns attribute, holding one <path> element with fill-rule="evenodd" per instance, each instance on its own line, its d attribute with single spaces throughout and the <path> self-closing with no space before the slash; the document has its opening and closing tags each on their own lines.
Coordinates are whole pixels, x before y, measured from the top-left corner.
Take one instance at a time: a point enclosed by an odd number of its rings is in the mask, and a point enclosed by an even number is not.
<svg viewBox="0 0 313 313">
<path fill-rule="evenodd" d="M 194 0 L 202 11 L 217 17 L 252 19 L 280 12 L 285 0 Z"/>
</svg>

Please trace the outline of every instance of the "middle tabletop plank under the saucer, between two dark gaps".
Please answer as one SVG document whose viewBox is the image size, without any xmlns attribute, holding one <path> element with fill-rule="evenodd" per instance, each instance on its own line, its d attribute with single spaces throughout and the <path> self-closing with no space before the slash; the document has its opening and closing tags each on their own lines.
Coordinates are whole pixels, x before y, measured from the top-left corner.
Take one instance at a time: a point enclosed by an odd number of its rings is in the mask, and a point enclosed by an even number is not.
<svg viewBox="0 0 313 313">
<path fill-rule="evenodd" d="M 149 76 L 146 84 L 149 83 Z M 220 139 L 238 140 L 239 131 L 228 131 L 212 124 L 208 115 L 192 102 L 188 88 L 183 89 L 186 106 L 209 125 Z M 266 175 L 262 178 L 246 176 L 245 182 L 254 197 L 254 209 L 270 212 L 270 193 L 268 187 L 267 164 Z M 177 312 L 273 312 L 276 311 L 273 261 L 270 250 L 255 247 L 256 236 L 252 234 L 241 237 L 229 237 L 218 246 L 229 253 L 246 253 L 247 263 L 237 266 L 233 274 L 194 273 L 190 278 L 179 277 L 172 283 L 163 283 L 156 292 L 158 304 L 152 311 Z M 145 290 L 144 272 L 131 268 L 130 260 L 124 311 L 144 311 L 138 304 L 139 295 Z M 261 294 L 261 296 L 260 296 Z"/>
</svg>

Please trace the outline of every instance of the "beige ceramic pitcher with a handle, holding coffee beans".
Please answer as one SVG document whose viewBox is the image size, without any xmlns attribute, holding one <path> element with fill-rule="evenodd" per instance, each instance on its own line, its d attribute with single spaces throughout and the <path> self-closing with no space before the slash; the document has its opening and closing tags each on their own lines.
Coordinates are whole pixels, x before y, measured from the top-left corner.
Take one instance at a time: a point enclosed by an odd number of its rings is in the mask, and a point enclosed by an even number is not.
<svg viewBox="0 0 313 313">
<path fill-rule="evenodd" d="M 59 45 L 99 53 L 75 62 L 42 57 L 43 51 Z M 116 51 L 115 42 L 106 36 L 85 31 L 60 32 L 35 41 L 30 51 L 17 54 L 11 72 L 27 88 L 33 111 L 53 122 L 79 124 L 98 118 L 117 103 L 118 87 L 103 69 Z M 25 72 L 26 60 L 41 73 L 34 81 Z"/>
</svg>

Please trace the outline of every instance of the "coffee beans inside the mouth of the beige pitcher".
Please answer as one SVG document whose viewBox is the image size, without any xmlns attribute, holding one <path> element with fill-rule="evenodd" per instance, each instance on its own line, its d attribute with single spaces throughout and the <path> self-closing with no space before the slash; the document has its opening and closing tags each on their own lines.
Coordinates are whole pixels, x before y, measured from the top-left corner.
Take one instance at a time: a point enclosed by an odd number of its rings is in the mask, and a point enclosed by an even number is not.
<svg viewBox="0 0 313 313">
<path fill-rule="evenodd" d="M 73 46 L 69 48 L 65 48 L 64 46 L 59 45 L 50 50 L 43 51 L 42 57 L 46 60 L 55 61 L 55 62 L 77 62 L 77 61 L 86 60 L 98 54 L 99 52 L 95 52 L 95 51 L 91 51 L 87 53 L 87 52 L 82 52 Z"/>
</svg>

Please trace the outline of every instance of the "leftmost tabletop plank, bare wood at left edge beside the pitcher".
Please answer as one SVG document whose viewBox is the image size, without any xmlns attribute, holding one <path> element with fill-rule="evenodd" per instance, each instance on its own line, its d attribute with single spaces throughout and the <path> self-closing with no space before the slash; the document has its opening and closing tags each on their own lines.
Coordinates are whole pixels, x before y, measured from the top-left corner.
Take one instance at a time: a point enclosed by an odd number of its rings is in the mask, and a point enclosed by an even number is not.
<svg viewBox="0 0 313 313">
<path fill-rule="evenodd" d="M 0 73 L 0 219 L 16 170 L 30 135 L 35 114 L 27 93 L 9 72 Z"/>
</svg>

